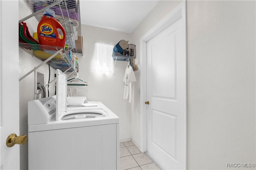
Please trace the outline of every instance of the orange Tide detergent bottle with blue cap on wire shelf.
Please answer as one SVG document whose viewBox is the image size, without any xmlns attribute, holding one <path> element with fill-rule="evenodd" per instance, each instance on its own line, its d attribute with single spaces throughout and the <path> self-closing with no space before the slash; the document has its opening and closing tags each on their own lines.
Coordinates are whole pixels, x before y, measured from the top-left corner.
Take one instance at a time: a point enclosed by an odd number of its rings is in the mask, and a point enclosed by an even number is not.
<svg viewBox="0 0 256 170">
<path fill-rule="evenodd" d="M 61 30 L 63 36 L 58 30 Z M 40 45 L 65 47 L 66 32 L 60 22 L 55 19 L 54 11 L 51 9 L 44 10 L 44 16 L 37 26 L 37 34 Z"/>
</svg>

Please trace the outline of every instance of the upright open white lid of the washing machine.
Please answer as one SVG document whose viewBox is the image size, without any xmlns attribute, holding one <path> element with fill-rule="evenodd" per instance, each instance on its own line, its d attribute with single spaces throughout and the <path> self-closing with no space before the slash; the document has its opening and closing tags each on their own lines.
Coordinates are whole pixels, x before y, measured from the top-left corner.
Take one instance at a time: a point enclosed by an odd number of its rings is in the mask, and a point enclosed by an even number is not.
<svg viewBox="0 0 256 170">
<path fill-rule="evenodd" d="M 67 112 L 67 75 L 56 70 L 56 121 Z"/>
</svg>

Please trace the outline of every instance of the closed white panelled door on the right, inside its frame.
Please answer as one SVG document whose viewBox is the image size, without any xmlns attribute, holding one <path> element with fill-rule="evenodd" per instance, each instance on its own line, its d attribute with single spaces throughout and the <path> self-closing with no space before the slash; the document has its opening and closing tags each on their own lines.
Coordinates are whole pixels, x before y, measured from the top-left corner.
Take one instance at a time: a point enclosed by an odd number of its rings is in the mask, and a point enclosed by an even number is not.
<svg viewBox="0 0 256 170">
<path fill-rule="evenodd" d="M 147 152 L 164 169 L 186 168 L 186 55 L 182 17 L 147 42 Z"/>
</svg>

